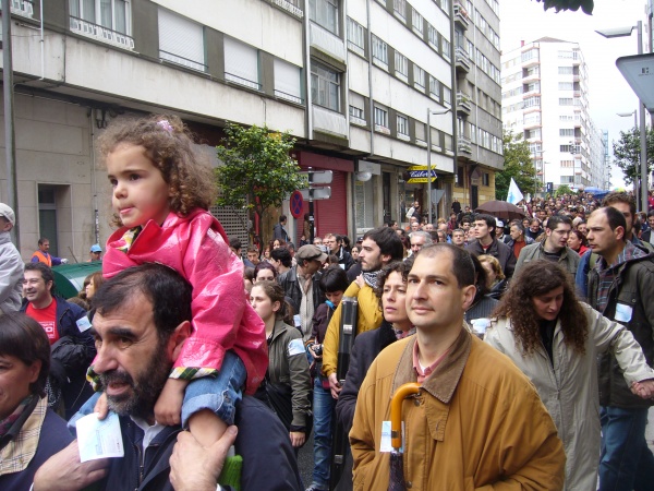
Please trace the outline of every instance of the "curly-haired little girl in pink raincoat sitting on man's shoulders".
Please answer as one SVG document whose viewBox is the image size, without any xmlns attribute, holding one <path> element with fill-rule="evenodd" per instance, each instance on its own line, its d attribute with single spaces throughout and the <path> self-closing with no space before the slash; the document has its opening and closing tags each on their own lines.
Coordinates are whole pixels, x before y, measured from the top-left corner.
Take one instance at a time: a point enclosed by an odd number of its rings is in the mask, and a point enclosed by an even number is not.
<svg viewBox="0 0 654 491">
<path fill-rule="evenodd" d="M 119 226 L 107 241 L 105 277 L 157 262 L 193 286 L 193 334 L 159 395 L 155 419 L 181 422 L 209 446 L 233 424 L 242 388 L 253 394 L 268 364 L 265 326 L 242 295 L 243 263 L 208 212 L 216 199 L 213 170 L 172 116 L 119 121 L 99 144 Z"/>
</svg>

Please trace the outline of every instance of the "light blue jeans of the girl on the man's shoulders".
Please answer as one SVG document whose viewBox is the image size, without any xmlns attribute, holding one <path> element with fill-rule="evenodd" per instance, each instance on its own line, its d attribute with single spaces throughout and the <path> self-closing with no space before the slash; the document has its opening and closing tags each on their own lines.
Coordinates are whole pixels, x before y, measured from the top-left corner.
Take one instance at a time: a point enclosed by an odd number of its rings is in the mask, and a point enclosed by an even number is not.
<svg viewBox="0 0 654 491">
<path fill-rule="evenodd" d="M 216 376 L 194 379 L 186 386 L 182 404 L 182 427 L 186 427 L 191 415 L 202 409 L 209 409 L 227 424 L 233 424 L 235 406 L 243 397 L 246 375 L 243 361 L 233 351 L 227 351 Z M 73 419 L 90 415 L 99 396 L 95 394 L 84 403 Z"/>
</svg>

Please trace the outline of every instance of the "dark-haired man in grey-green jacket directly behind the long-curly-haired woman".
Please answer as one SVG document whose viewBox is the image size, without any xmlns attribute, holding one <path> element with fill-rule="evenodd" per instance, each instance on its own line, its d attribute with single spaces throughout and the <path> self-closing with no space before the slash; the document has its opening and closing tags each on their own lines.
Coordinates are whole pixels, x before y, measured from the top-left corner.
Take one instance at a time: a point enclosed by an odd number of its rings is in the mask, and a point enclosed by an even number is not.
<svg viewBox="0 0 654 491">
<path fill-rule="evenodd" d="M 570 237 L 571 230 L 572 220 L 570 217 L 564 215 L 550 216 L 545 227 L 545 240 L 522 248 L 516 265 L 516 273 L 531 261 L 546 259 L 566 270 L 570 275 L 570 279 L 574 283 L 579 254 L 568 247 L 568 237 Z"/>
</svg>

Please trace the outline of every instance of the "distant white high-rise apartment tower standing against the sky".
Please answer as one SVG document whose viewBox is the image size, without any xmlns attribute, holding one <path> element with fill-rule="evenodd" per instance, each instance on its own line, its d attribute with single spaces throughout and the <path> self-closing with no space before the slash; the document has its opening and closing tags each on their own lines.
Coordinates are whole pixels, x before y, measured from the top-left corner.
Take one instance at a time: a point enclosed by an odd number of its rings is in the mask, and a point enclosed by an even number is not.
<svg viewBox="0 0 654 491">
<path fill-rule="evenodd" d="M 501 57 L 505 129 L 529 142 L 542 189 L 606 182 L 606 140 L 590 116 L 589 75 L 577 43 L 544 37 Z"/>
</svg>

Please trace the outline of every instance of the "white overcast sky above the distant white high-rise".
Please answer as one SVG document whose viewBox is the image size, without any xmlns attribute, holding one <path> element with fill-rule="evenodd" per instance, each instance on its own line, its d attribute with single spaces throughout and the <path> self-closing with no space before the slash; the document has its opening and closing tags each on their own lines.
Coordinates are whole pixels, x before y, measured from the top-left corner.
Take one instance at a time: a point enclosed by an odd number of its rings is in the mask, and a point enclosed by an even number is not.
<svg viewBox="0 0 654 491">
<path fill-rule="evenodd" d="M 504 51 L 518 48 L 521 40 L 529 43 L 544 36 L 579 43 L 589 68 L 590 116 L 596 127 L 608 130 L 613 152 L 619 131 L 633 127 L 633 116 L 621 118 L 616 112 L 630 112 L 638 107 L 638 98 L 616 67 L 617 58 L 637 53 L 637 34 L 633 29 L 631 37 L 606 39 L 595 29 L 635 25 L 642 20 L 646 39 L 645 0 L 595 0 L 593 15 L 581 9 L 544 12 L 543 4 L 535 0 L 499 0 L 499 5 Z M 611 169 L 611 185 L 623 185 L 621 171 Z"/>
</svg>

